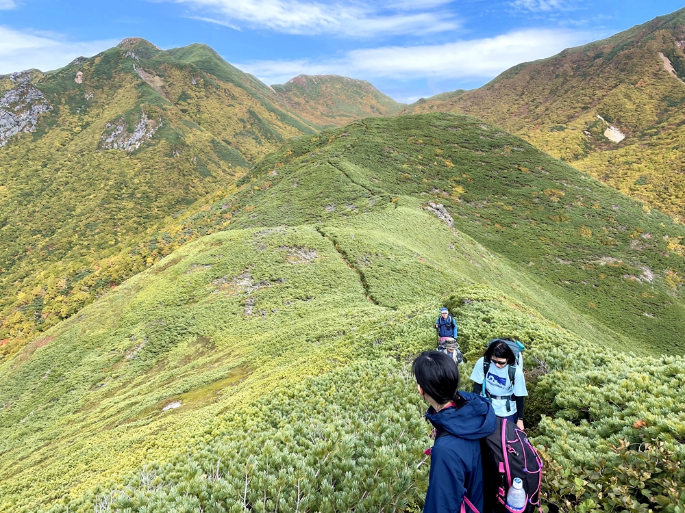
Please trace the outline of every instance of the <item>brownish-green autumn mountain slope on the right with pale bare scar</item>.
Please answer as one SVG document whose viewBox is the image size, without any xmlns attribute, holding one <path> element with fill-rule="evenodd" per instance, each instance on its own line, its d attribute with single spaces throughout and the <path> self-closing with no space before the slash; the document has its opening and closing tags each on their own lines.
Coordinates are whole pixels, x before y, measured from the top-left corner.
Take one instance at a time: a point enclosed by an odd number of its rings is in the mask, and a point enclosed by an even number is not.
<svg viewBox="0 0 685 513">
<path fill-rule="evenodd" d="M 679 10 L 407 111 L 463 112 L 497 123 L 682 221 L 684 41 L 685 10 Z M 609 127 L 625 139 L 610 140 Z"/>
</svg>

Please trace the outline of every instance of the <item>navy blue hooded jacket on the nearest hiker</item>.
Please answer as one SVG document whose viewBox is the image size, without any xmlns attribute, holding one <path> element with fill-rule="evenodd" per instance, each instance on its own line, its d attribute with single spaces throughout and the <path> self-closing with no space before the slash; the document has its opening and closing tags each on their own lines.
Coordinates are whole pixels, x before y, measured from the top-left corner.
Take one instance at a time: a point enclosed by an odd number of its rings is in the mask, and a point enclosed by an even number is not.
<svg viewBox="0 0 685 513">
<path fill-rule="evenodd" d="M 431 452 L 428 491 L 423 513 L 459 513 L 464 495 L 483 510 L 483 465 L 480 438 L 495 431 L 495 410 L 487 399 L 471 392 L 460 392 L 466 399 L 462 408 L 432 407 L 426 419 L 450 435 L 435 441 Z"/>
</svg>

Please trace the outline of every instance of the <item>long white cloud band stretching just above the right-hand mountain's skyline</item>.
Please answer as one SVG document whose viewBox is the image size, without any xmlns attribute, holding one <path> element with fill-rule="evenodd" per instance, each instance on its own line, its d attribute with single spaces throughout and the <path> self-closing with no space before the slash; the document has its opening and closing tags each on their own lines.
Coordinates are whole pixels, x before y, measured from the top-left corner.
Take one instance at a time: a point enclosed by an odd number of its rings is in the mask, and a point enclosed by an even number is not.
<svg viewBox="0 0 685 513">
<path fill-rule="evenodd" d="M 283 83 L 301 74 L 400 81 L 491 79 L 515 64 L 549 57 L 602 36 L 570 29 L 527 29 L 440 45 L 359 49 L 333 60 L 272 60 L 236 66 L 266 83 Z"/>
</svg>

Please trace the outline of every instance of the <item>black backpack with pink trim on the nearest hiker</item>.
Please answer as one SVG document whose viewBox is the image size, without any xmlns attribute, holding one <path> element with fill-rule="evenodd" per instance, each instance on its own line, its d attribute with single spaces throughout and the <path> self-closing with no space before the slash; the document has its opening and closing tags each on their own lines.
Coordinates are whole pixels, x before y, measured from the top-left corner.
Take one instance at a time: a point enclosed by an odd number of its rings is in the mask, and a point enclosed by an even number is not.
<svg viewBox="0 0 685 513">
<path fill-rule="evenodd" d="M 514 477 L 523 481 L 526 494 L 524 513 L 540 509 L 543 461 L 525 432 L 507 419 L 497 419 L 497 428 L 482 438 L 484 513 L 508 513 L 507 492 Z"/>
</svg>

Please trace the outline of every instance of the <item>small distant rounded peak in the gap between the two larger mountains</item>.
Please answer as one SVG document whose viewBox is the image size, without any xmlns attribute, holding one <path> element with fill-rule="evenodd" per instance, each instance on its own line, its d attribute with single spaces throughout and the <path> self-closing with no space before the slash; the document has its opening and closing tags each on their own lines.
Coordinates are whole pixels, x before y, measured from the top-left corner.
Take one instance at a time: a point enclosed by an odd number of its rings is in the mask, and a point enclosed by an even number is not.
<svg viewBox="0 0 685 513">
<path fill-rule="evenodd" d="M 359 118 L 393 116 L 406 106 L 365 80 L 338 75 L 299 75 L 271 87 L 292 111 L 321 125 L 339 127 Z"/>
</svg>

